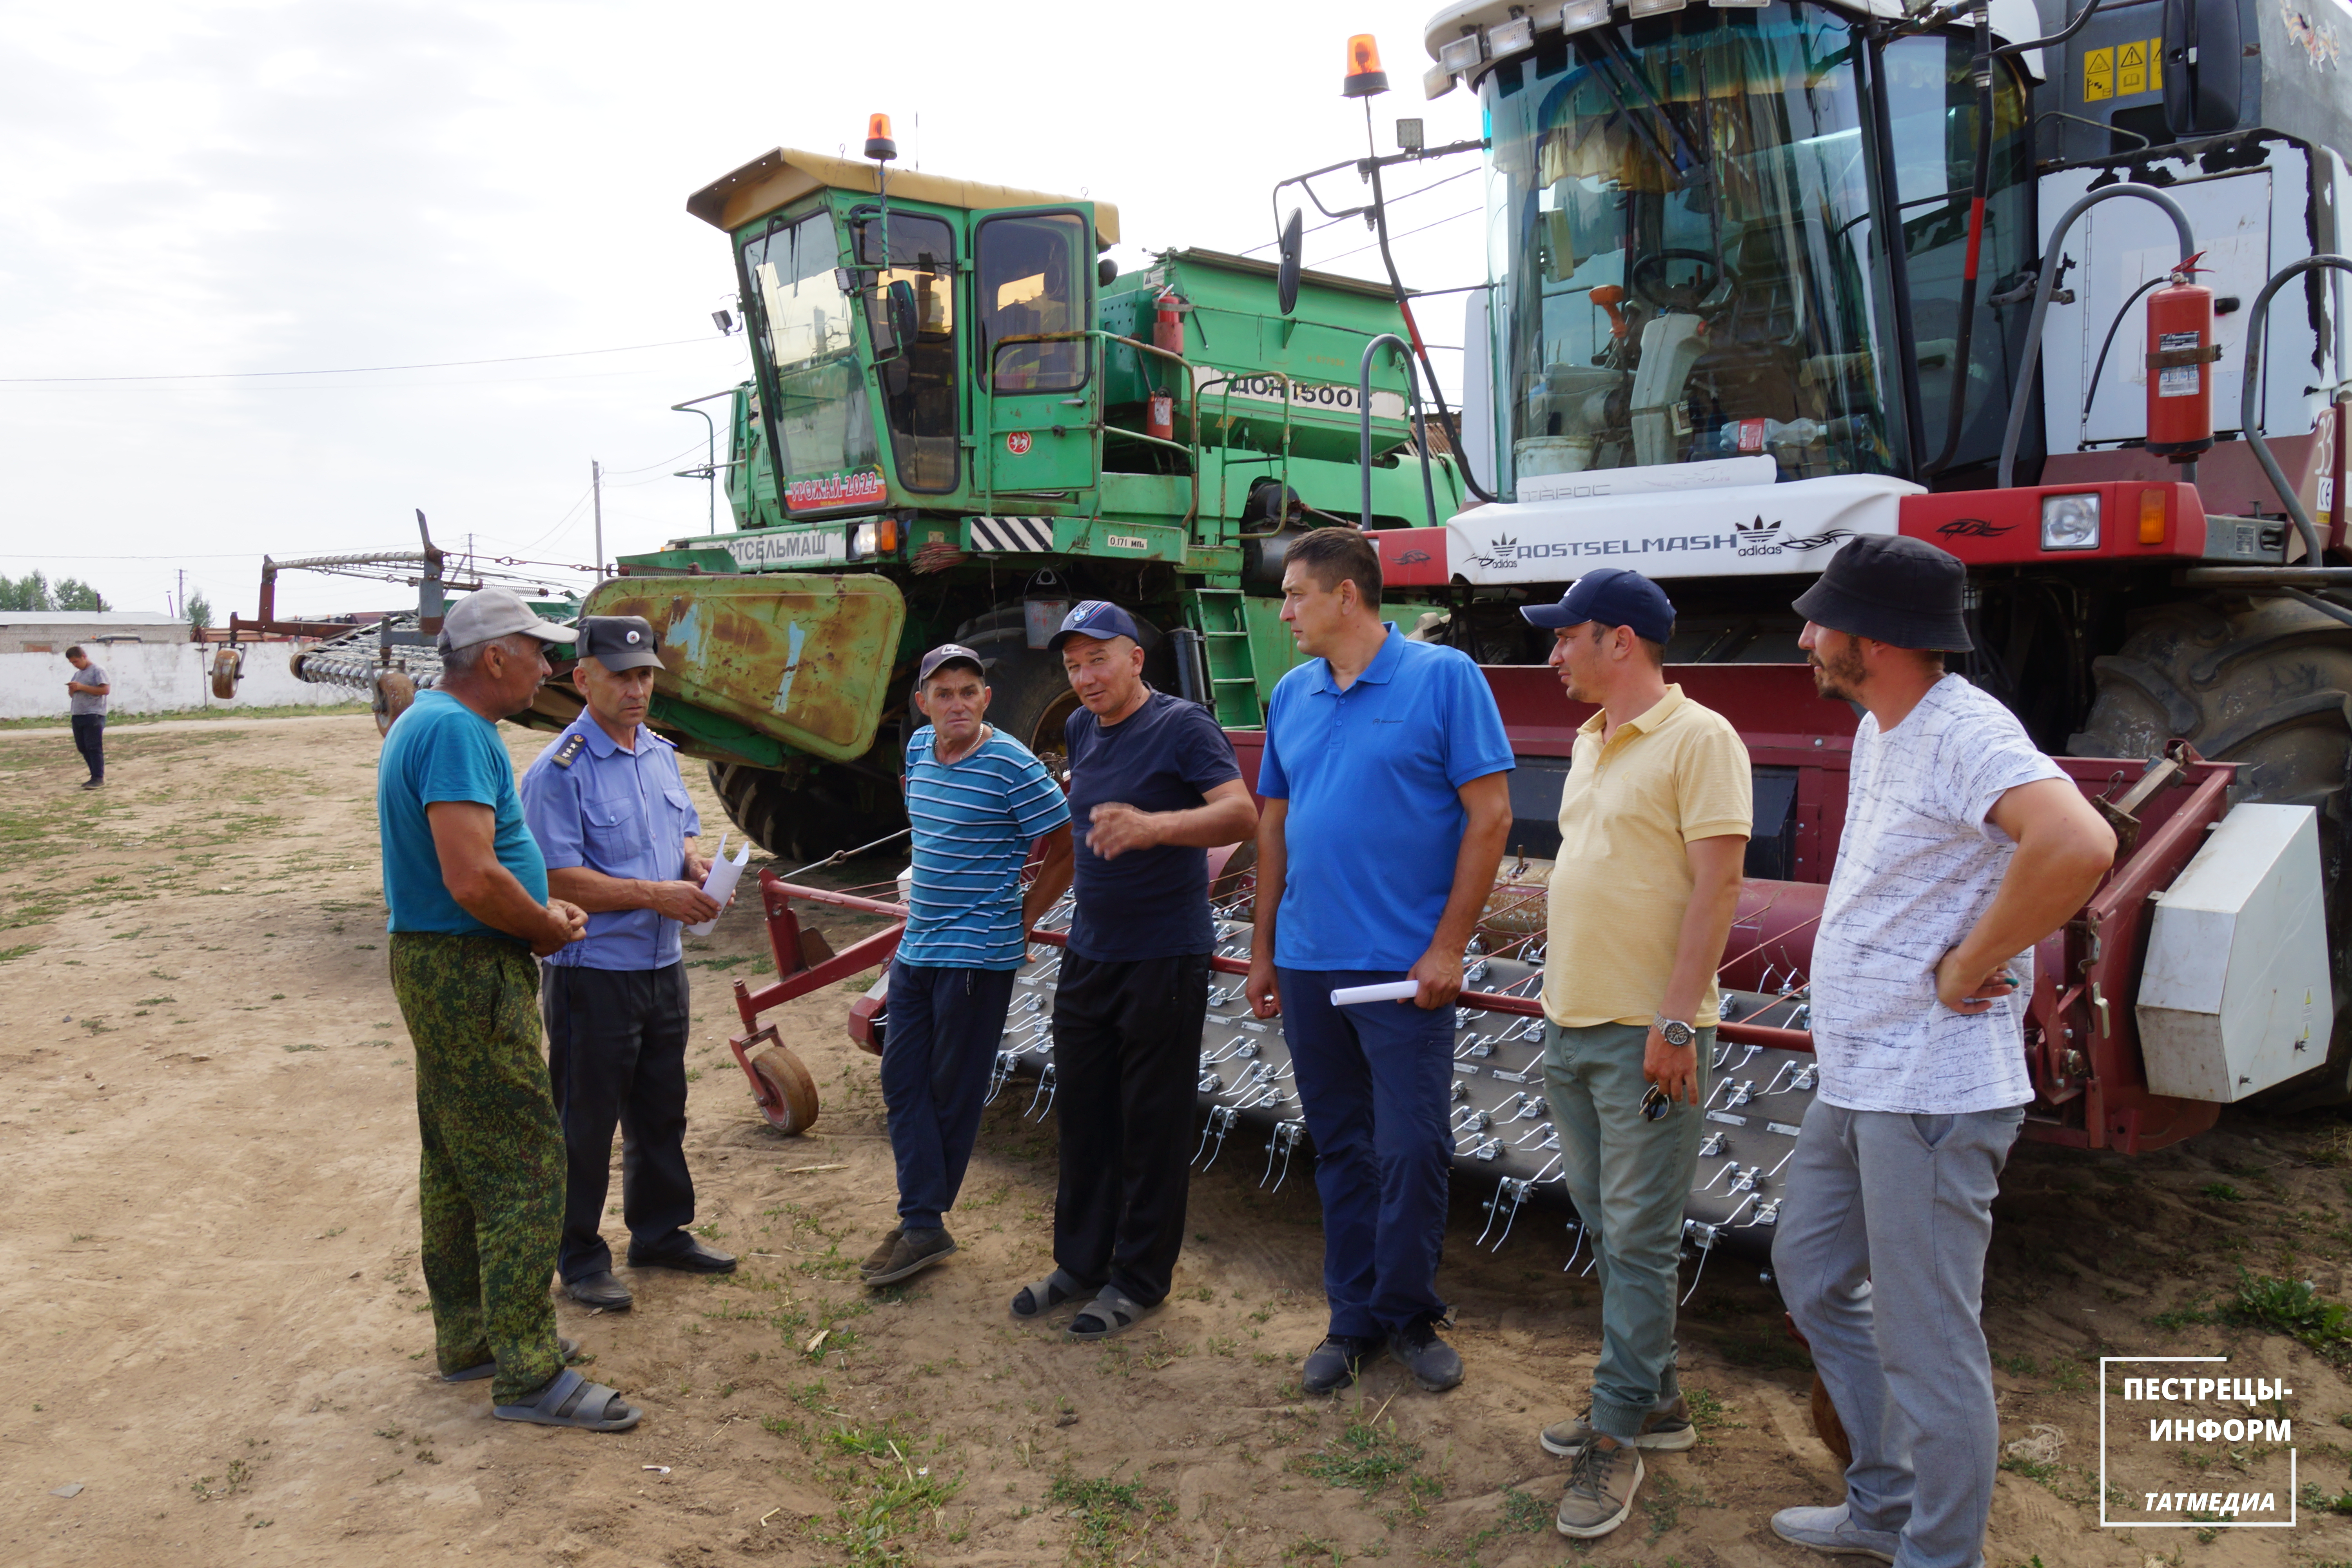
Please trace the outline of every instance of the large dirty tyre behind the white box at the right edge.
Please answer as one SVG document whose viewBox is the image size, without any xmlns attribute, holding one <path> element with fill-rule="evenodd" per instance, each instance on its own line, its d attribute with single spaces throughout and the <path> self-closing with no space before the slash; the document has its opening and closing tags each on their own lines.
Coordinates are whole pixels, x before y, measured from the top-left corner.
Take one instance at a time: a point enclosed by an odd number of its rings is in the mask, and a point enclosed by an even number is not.
<svg viewBox="0 0 2352 1568">
<path fill-rule="evenodd" d="M 2319 811 L 2336 1030 L 2328 1060 L 2265 1105 L 2352 1098 L 2352 903 L 2345 839 L 2352 802 L 2352 625 L 2286 597 L 2180 599 L 2138 616 L 2117 654 L 2091 663 L 2098 696 L 2074 757 L 2157 757 L 2180 738 L 2239 764 L 2239 799 Z"/>
</svg>

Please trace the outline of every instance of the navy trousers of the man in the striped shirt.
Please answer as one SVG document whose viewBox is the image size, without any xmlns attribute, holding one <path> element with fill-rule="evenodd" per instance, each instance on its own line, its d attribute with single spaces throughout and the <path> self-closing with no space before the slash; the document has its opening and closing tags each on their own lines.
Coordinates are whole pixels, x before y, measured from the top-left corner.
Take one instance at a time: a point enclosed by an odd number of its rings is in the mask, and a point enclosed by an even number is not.
<svg viewBox="0 0 2352 1568">
<path fill-rule="evenodd" d="M 1011 999 L 1009 969 L 917 969 L 891 959 L 882 1105 L 903 1229 L 938 1229 L 955 1208 Z"/>
</svg>

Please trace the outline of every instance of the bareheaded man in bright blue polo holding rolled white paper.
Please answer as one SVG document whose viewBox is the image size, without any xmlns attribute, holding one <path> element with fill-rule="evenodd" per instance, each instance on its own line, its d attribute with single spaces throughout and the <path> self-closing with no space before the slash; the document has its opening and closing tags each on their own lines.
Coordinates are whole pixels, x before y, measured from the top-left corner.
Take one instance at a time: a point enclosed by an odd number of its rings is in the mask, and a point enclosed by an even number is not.
<svg viewBox="0 0 2352 1568">
<path fill-rule="evenodd" d="M 1291 545 L 1282 618 L 1310 658 L 1265 712 L 1247 987 L 1258 1018 L 1282 1013 L 1324 1206 L 1331 1331 L 1301 1380 L 1338 1392 L 1385 1347 L 1449 1389 L 1463 1380 L 1437 1338 L 1451 1009 L 1510 835 L 1510 743 L 1465 654 L 1381 621 L 1381 557 L 1355 529 Z M 1418 990 L 1331 1006 L 1383 980 Z"/>
</svg>

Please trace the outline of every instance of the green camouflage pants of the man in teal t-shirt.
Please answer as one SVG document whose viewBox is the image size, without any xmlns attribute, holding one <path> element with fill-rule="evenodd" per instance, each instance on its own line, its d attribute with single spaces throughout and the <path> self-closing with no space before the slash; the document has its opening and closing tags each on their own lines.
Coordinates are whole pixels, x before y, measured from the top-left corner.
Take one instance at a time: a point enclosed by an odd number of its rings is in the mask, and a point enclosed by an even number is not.
<svg viewBox="0 0 2352 1568">
<path fill-rule="evenodd" d="M 555 1244 L 564 1133 L 539 1056 L 539 961 L 494 936 L 395 931 L 393 997 L 416 1041 L 416 1208 L 440 1368 L 496 1359 L 492 1403 L 562 1371 Z"/>
</svg>

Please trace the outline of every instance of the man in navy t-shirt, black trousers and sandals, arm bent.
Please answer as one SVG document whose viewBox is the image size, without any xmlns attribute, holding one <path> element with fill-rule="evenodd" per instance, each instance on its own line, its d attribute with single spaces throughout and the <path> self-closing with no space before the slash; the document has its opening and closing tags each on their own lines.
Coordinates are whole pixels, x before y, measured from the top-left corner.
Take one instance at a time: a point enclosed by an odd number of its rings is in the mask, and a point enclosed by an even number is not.
<svg viewBox="0 0 2352 1568">
<path fill-rule="evenodd" d="M 1124 609 L 1082 602 L 1047 649 L 1087 705 L 1063 729 L 1077 910 L 1054 992 L 1056 1267 L 1014 1316 L 1094 1293 L 1070 1338 L 1103 1340 L 1167 1300 L 1183 1248 L 1216 947 L 1207 851 L 1247 839 L 1258 811 L 1209 710 L 1143 684 Z"/>
</svg>

